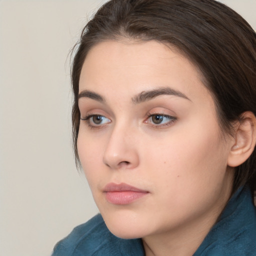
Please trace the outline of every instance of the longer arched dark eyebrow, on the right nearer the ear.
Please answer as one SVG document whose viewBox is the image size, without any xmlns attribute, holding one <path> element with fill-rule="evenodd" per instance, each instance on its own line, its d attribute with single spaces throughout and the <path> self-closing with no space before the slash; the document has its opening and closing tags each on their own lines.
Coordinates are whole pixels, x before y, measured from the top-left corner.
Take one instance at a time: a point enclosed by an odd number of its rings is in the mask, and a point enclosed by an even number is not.
<svg viewBox="0 0 256 256">
<path fill-rule="evenodd" d="M 132 102 L 134 104 L 139 104 L 141 102 L 153 99 L 160 95 L 174 95 L 174 96 L 178 96 L 178 97 L 190 100 L 185 94 L 183 94 L 178 90 L 175 90 L 169 87 L 160 87 L 160 88 L 140 92 L 139 94 L 135 95 L 132 98 Z"/>
</svg>

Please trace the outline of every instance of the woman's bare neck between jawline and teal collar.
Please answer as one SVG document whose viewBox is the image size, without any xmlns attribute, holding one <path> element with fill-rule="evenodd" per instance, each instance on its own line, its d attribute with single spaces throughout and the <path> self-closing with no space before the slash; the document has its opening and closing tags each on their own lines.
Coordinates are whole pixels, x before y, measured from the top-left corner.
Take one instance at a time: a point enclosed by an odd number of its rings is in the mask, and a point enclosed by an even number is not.
<svg viewBox="0 0 256 256">
<path fill-rule="evenodd" d="M 142 238 L 146 256 L 192 256 L 211 227 L 216 223 L 231 193 L 231 186 L 221 191 L 221 201 L 197 218 L 164 233 Z"/>
</svg>

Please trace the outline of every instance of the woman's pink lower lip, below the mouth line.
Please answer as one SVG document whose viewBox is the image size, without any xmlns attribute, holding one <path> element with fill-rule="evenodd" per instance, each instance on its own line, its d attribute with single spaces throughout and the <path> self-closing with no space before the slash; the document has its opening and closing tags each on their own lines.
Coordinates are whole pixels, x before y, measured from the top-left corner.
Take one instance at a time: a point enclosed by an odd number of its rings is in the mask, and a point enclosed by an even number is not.
<svg viewBox="0 0 256 256">
<path fill-rule="evenodd" d="M 106 200 L 113 204 L 129 204 L 147 194 L 148 194 L 148 192 L 140 192 L 140 191 L 109 191 L 109 192 L 105 192 Z"/>
</svg>

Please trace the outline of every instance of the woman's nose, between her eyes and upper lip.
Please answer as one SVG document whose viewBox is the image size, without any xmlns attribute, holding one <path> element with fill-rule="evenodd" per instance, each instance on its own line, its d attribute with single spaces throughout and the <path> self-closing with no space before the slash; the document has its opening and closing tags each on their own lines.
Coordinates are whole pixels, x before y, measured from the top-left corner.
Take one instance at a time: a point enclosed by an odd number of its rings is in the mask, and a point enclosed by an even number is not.
<svg viewBox="0 0 256 256">
<path fill-rule="evenodd" d="M 103 163 L 111 169 L 132 169 L 139 164 L 134 130 L 113 128 L 103 153 Z"/>
</svg>

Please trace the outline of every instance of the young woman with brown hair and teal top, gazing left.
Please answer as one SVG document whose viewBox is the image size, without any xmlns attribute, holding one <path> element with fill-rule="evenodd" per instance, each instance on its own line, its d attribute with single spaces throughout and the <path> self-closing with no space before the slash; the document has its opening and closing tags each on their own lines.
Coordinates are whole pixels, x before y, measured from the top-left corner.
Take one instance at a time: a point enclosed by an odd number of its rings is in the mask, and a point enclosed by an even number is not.
<svg viewBox="0 0 256 256">
<path fill-rule="evenodd" d="M 256 34 L 214 0 L 110 0 L 73 65 L 100 214 L 52 255 L 256 255 Z"/>
</svg>

